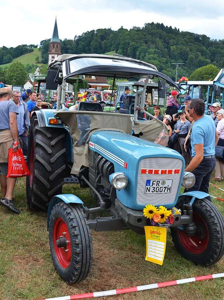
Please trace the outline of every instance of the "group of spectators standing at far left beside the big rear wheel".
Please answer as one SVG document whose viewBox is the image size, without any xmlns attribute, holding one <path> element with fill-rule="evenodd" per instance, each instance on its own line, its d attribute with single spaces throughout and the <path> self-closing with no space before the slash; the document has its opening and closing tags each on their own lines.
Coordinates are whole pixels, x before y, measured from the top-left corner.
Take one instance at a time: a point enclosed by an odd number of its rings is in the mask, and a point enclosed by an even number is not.
<svg viewBox="0 0 224 300">
<path fill-rule="evenodd" d="M 8 149 L 22 148 L 23 155 L 28 154 L 28 133 L 31 114 L 43 105 L 52 104 L 37 98 L 35 91 L 27 89 L 22 94 L 18 90 L 11 91 L 8 87 L 0 88 L 0 175 L 1 204 L 14 213 L 19 210 L 14 205 L 13 190 L 16 178 L 7 178 Z"/>
</svg>

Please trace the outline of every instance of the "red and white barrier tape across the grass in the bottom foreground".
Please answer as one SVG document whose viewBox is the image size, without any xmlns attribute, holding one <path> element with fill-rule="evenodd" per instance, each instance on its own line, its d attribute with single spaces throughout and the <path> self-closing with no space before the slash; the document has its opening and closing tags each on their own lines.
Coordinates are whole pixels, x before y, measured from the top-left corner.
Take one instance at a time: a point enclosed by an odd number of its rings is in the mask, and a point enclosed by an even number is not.
<svg viewBox="0 0 224 300">
<path fill-rule="evenodd" d="M 192 277 L 192 278 L 185 278 L 185 279 L 172 280 L 172 281 L 165 281 L 165 282 L 159 282 L 159 283 L 153 283 L 153 284 L 147 284 L 147 285 L 141 285 L 141 286 L 133 286 L 133 287 L 128 287 L 128 288 L 124 288 L 124 289 L 112 289 L 112 290 L 103 291 L 103 292 L 77 294 L 77 295 L 72 295 L 72 296 L 46 298 L 46 299 L 40 299 L 40 300 L 74 300 L 74 299 L 85 299 L 85 298 L 95 298 L 95 297 L 119 295 L 119 294 L 143 291 L 143 290 L 147 290 L 147 289 L 157 289 L 159 287 L 172 286 L 172 285 L 176 285 L 176 284 L 189 283 L 189 282 L 194 282 L 194 281 L 202 281 L 202 280 L 206 280 L 206 279 L 214 279 L 214 278 L 220 278 L 220 277 L 224 277 L 224 273 Z"/>
</svg>

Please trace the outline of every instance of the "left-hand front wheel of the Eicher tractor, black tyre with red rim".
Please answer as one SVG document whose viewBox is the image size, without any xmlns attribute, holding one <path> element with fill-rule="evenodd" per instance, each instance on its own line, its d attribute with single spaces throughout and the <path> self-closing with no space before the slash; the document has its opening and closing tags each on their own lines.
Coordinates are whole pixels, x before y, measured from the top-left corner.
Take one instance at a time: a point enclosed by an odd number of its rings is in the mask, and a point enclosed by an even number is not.
<svg viewBox="0 0 224 300">
<path fill-rule="evenodd" d="M 58 203 L 51 211 L 49 243 L 54 267 L 68 283 L 84 280 L 92 265 L 92 239 L 86 215 L 74 204 Z"/>
</svg>

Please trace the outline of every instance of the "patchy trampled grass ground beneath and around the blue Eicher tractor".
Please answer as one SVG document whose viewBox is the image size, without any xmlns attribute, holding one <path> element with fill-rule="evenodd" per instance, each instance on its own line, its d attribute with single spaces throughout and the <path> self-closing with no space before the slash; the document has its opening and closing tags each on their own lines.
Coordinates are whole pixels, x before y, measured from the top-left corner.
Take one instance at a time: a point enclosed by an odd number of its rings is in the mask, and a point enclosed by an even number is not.
<svg viewBox="0 0 224 300">
<path fill-rule="evenodd" d="M 217 185 L 224 187 L 223 182 Z M 63 193 L 74 193 L 87 205 L 93 202 L 88 189 L 78 184 L 65 184 Z M 210 193 L 224 198 L 224 192 L 215 187 L 210 187 Z M 24 178 L 18 180 L 14 196 L 21 214 L 14 215 L 0 207 L 1 300 L 38 300 L 224 271 L 223 258 L 208 268 L 185 260 L 176 252 L 169 232 L 164 263 L 160 266 L 145 261 L 144 235 L 131 230 L 92 231 L 94 260 L 89 277 L 78 284 L 67 284 L 58 276 L 51 261 L 46 213 L 28 210 Z M 224 202 L 215 200 L 214 203 L 224 215 Z M 224 280 L 220 278 L 96 299 L 222 300 L 223 285 Z"/>
</svg>

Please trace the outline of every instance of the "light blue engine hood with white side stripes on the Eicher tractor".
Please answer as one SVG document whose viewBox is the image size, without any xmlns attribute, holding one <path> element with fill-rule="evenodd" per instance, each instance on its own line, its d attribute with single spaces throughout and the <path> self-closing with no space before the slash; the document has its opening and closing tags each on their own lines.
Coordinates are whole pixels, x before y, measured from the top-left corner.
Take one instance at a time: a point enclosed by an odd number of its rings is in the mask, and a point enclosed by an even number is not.
<svg viewBox="0 0 224 300">
<path fill-rule="evenodd" d="M 157 161 L 156 169 L 158 169 L 159 164 L 159 170 L 164 169 L 164 166 L 166 169 L 172 170 L 173 167 L 175 169 L 175 166 L 170 165 L 168 162 L 174 160 L 179 161 L 181 168 L 179 168 L 179 175 L 175 178 L 179 178 L 175 191 L 175 199 L 172 203 L 168 203 L 168 205 L 164 206 L 169 208 L 173 207 L 174 203 L 176 204 L 185 167 L 184 159 L 178 152 L 118 131 L 96 131 L 90 137 L 89 149 L 98 152 L 104 158 L 111 161 L 114 164 L 115 172 L 123 172 L 126 174 L 128 177 L 128 185 L 123 190 L 116 190 L 117 198 L 129 208 L 137 210 L 142 210 L 145 206 L 145 204 L 138 204 L 136 202 L 140 162 L 144 160 L 144 158 L 154 158 L 154 160 Z M 150 165 L 150 169 L 153 168 L 153 164 Z M 145 170 L 147 169 L 149 169 L 149 167 L 145 168 Z M 159 172 L 161 172 L 161 170 Z M 166 178 L 165 175 L 161 176 L 161 179 Z M 146 175 L 145 178 L 142 179 L 143 185 L 147 179 L 150 179 L 150 176 Z"/>
</svg>

